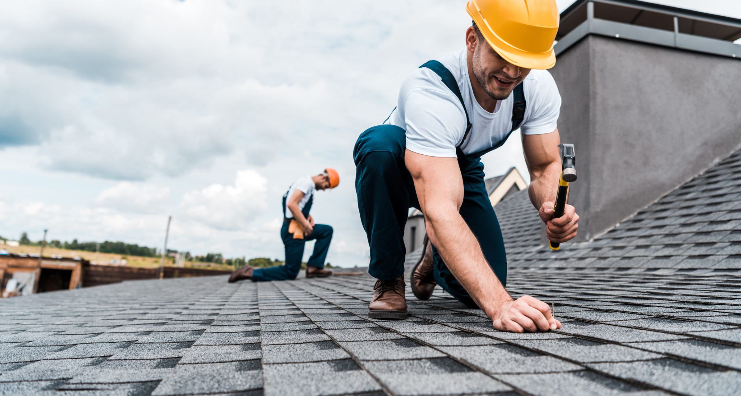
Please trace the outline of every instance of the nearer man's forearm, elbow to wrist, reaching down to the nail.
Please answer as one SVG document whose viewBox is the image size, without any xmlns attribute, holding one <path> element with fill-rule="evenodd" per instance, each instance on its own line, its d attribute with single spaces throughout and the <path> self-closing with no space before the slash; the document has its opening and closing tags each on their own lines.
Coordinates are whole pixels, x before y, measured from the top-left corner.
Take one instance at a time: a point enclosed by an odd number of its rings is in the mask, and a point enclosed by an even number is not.
<svg viewBox="0 0 741 396">
<path fill-rule="evenodd" d="M 487 263 L 479 241 L 457 211 L 432 212 L 426 229 L 453 276 L 490 318 L 502 303 L 512 301 Z"/>
</svg>

